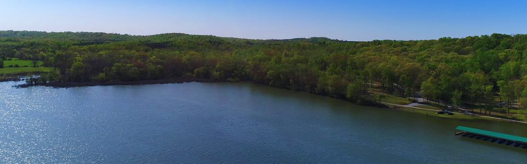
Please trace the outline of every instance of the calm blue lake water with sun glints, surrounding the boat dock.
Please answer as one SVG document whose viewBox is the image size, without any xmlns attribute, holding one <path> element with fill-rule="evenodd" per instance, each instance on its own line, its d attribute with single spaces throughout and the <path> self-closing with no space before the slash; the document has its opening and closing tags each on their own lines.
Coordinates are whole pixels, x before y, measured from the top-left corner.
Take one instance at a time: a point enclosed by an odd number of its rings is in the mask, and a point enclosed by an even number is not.
<svg viewBox="0 0 527 164">
<path fill-rule="evenodd" d="M 436 118 L 243 83 L 16 89 L 0 83 L 0 163 L 525 163 Z M 19 83 L 19 82 L 18 82 Z"/>
</svg>

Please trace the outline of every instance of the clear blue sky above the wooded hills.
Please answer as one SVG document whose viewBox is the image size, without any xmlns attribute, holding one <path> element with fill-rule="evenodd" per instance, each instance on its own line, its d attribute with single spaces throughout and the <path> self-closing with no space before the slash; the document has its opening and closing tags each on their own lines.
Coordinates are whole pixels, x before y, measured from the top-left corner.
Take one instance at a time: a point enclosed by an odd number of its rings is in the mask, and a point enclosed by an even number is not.
<svg viewBox="0 0 527 164">
<path fill-rule="evenodd" d="M 251 39 L 419 40 L 527 34 L 527 1 L 0 0 L 0 30 Z"/>
</svg>

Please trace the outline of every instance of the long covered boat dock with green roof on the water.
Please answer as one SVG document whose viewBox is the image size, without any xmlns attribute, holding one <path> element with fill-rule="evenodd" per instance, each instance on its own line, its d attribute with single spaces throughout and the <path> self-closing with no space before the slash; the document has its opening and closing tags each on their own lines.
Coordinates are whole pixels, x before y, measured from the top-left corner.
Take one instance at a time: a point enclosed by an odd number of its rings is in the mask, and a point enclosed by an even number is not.
<svg viewBox="0 0 527 164">
<path fill-rule="evenodd" d="M 455 135 L 502 143 L 514 147 L 527 148 L 527 137 L 502 134 L 494 131 L 457 126 Z"/>
</svg>

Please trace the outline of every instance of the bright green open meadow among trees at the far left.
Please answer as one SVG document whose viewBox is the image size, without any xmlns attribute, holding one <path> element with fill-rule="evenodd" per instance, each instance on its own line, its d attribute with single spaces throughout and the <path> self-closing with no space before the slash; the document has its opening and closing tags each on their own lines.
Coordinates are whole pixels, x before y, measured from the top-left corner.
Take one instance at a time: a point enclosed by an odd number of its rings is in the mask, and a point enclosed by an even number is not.
<svg viewBox="0 0 527 164">
<path fill-rule="evenodd" d="M 38 61 L 39 67 L 33 67 L 31 60 L 4 60 L 4 68 L 0 68 L 0 74 L 47 73 L 51 71 L 52 67 L 42 67 L 42 64 L 42 61 Z M 15 65 L 18 67 L 14 67 Z"/>
</svg>

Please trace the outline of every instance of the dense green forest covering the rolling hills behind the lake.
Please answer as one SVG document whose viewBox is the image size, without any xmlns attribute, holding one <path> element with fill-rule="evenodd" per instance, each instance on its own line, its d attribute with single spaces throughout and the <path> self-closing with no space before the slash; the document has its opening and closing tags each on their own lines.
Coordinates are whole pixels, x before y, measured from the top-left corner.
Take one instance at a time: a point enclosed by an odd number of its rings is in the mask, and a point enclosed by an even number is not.
<svg viewBox="0 0 527 164">
<path fill-rule="evenodd" d="M 0 31 L 0 57 L 54 67 L 40 83 L 206 78 L 355 102 L 375 101 L 368 88 L 377 84 L 454 106 L 527 108 L 527 35 L 345 42 Z"/>
</svg>

